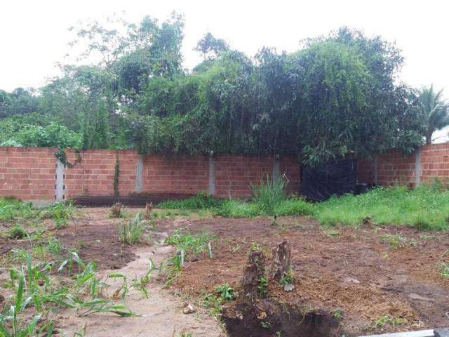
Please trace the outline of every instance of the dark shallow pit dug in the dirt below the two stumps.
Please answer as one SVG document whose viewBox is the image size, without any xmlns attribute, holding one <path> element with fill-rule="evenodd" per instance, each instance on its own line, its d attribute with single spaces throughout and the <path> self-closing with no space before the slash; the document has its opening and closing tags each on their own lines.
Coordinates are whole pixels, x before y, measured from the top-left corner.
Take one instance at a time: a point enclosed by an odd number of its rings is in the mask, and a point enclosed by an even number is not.
<svg viewBox="0 0 449 337">
<path fill-rule="evenodd" d="M 344 334 L 337 319 L 324 310 L 305 310 L 269 298 L 225 308 L 223 321 L 229 337 L 333 337 Z"/>
</svg>

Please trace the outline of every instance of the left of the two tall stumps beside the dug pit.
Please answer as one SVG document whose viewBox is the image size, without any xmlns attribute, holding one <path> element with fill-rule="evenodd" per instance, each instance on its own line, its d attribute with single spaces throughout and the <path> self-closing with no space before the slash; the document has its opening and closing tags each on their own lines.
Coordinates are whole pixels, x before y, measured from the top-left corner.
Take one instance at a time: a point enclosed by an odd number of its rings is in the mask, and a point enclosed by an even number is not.
<svg viewBox="0 0 449 337">
<path fill-rule="evenodd" d="M 265 257 L 262 251 L 250 251 L 248 264 L 243 272 L 241 282 L 242 298 L 257 296 L 259 279 L 265 274 Z"/>
</svg>

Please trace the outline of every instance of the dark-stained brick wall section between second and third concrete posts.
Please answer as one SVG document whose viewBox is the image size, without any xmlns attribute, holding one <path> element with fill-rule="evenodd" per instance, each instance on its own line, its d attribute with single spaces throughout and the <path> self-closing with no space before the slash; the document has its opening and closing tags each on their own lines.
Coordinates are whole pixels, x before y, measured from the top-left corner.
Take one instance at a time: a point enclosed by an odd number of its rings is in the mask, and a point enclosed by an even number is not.
<svg viewBox="0 0 449 337">
<path fill-rule="evenodd" d="M 208 182 L 208 157 L 143 157 L 143 192 L 195 194 Z"/>
</svg>

